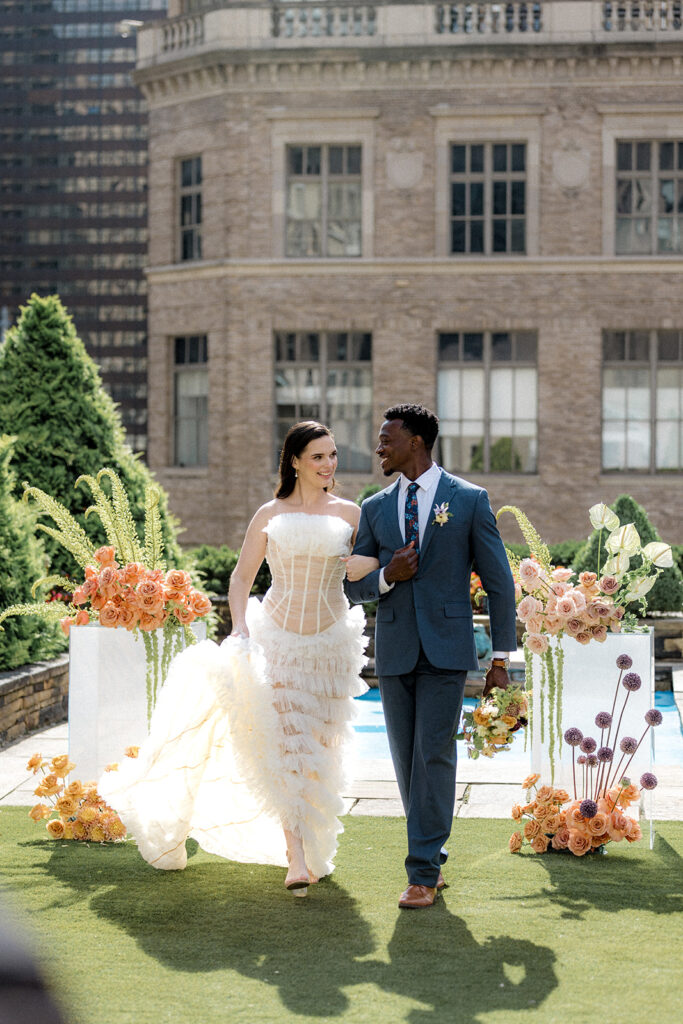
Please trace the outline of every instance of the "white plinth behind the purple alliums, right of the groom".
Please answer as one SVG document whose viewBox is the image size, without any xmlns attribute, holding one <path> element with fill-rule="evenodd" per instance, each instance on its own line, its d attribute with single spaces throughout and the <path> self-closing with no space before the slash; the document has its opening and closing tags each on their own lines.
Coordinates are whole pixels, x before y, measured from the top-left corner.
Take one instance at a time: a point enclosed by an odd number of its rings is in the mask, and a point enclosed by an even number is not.
<svg viewBox="0 0 683 1024">
<path fill-rule="evenodd" d="M 616 658 L 629 654 L 633 659 L 629 672 L 637 672 L 642 680 L 639 690 L 632 692 L 626 705 L 616 740 L 616 761 L 622 757 L 618 742 L 624 736 L 640 739 L 646 722 L 645 712 L 654 706 L 654 631 L 647 633 L 608 633 L 604 643 L 592 642 L 584 646 L 565 637 L 560 641 L 564 651 L 564 672 L 561 698 L 561 719 L 550 722 L 550 701 L 547 684 L 542 700 L 541 658 L 532 658 L 533 717 L 531 725 L 531 768 L 541 775 L 544 784 L 563 786 L 573 794 L 571 774 L 571 748 L 562 739 L 569 726 L 577 726 L 585 736 L 593 736 L 600 745 L 600 729 L 595 716 L 600 711 L 611 712 L 620 670 Z M 527 684 L 528 685 L 528 684 Z M 613 746 L 614 728 L 624 706 L 627 690 L 620 686 L 614 711 L 614 724 L 609 745 Z M 606 733 L 605 733 L 606 740 Z M 551 742 L 554 753 L 554 773 L 551 766 Z M 559 742 L 561 740 L 561 743 Z M 575 754 L 581 754 L 579 748 Z M 637 782 L 652 757 L 651 731 L 645 737 L 629 768 L 629 777 Z M 616 767 L 616 765 L 614 765 Z M 579 783 L 579 773 L 577 781 Z M 582 796 L 585 796 L 582 794 Z"/>
</svg>

